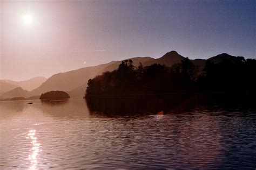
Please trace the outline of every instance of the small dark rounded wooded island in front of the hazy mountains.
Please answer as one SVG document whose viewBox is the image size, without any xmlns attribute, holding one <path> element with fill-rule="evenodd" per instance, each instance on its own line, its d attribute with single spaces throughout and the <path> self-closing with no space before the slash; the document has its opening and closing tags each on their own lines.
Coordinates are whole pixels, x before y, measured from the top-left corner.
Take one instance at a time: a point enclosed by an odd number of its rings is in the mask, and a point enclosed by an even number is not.
<svg viewBox="0 0 256 170">
<path fill-rule="evenodd" d="M 66 100 L 70 98 L 69 94 L 65 91 L 48 91 L 42 93 L 40 100 Z"/>
</svg>

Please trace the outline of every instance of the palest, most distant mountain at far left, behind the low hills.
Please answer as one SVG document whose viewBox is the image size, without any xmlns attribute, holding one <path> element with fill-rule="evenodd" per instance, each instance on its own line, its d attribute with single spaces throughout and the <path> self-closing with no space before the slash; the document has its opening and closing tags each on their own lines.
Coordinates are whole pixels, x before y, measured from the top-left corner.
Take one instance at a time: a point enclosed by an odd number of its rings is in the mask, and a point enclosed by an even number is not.
<svg viewBox="0 0 256 170">
<path fill-rule="evenodd" d="M 3 80 L 10 84 L 15 84 L 17 87 L 21 87 L 24 90 L 31 91 L 39 86 L 47 79 L 45 77 L 33 77 L 32 79 L 25 81 L 12 81 L 12 80 Z"/>
</svg>

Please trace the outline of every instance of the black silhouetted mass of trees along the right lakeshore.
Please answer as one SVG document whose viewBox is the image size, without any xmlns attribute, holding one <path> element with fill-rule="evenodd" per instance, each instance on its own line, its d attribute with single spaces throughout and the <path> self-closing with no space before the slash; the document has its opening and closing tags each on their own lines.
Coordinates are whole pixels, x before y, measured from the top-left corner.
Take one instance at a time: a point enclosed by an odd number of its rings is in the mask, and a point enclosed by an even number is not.
<svg viewBox="0 0 256 170">
<path fill-rule="evenodd" d="M 237 57 L 213 63 L 207 60 L 199 69 L 190 59 L 172 67 L 153 64 L 138 67 L 124 60 L 118 69 L 105 72 L 88 81 L 86 96 L 166 94 L 198 92 L 255 92 L 256 60 Z"/>
</svg>

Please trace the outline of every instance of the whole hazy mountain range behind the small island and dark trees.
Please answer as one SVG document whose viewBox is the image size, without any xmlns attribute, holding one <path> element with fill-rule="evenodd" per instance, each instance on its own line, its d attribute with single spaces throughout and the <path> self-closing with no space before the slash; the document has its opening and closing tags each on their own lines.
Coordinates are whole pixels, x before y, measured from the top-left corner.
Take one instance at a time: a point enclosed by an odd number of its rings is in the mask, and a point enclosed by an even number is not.
<svg viewBox="0 0 256 170">
<path fill-rule="evenodd" d="M 213 56 L 207 60 L 211 60 L 216 63 L 223 59 L 232 60 L 232 58 L 235 58 L 235 56 L 223 53 Z M 141 62 L 143 66 L 150 66 L 154 63 L 159 63 L 160 65 L 166 65 L 169 67 L 171 67 L 173 64 L 180 63 L 180 61 L 183 59 L 184 56 L 181 56 L 176 51 L 168 52 L 158 59 L 151 57 L 131 58 L 134 66 L 139 66 L 139 63 Z M 198 65 L 200 69 L 203 69 L 207 60 L 195 59 L 191 61 L 195 65 Z M 22 82 L 1 80 L 1 91 L 5 93 L 2 92 L 0 98 L 38 96 L 52 90 L 66 91 L 71 98 L 81 98 L 84 96 L 87 81 L 89 79 L 92 79 L 96 75 L 102 74 L 103 72 L 111 72 L 114 69 L 117 69 L 121 62 L 122 61 L 111 61 L 98 66 L 85 67 L 65 73 L 58 73 L 52 75 L 47 80 L 44 77 L 35 77 L 31 80 Z"/>
</svg>

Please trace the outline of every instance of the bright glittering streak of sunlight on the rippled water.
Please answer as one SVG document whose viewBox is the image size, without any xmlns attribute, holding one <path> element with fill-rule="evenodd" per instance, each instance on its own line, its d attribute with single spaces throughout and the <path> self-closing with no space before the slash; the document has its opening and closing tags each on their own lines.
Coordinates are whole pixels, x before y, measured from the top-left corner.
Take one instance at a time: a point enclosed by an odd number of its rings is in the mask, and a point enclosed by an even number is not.
<svg viewBox="0 0 256 170">
<path fill-rule="evenodd" d="M 26 137 L 27 139 L 31 139 L 31 144 L 32 144 L 32 148 L 31 148 L 31 154 L 29 154 L 29 160 L 31 163 L 31 167 L 30 169 L 36 169 L 37 166 L 37 155 L 38 152 L 41 151 L 39 149 L 40 144 L 37 142 L 37 137 L 36 135 L 36 130 L 30 130 L 28 133 L 28 137 Z"/>
</svg>

